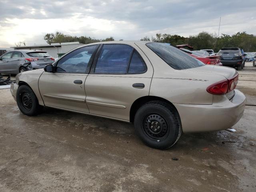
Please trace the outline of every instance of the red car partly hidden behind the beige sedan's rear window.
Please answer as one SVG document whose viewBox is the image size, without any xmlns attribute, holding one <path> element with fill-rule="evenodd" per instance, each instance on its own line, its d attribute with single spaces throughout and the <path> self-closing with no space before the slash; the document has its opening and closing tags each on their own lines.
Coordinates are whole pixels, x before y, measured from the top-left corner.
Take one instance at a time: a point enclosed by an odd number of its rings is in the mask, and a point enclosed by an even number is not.
<svg viewBox="0 0 256 192">
<path fill-rule="evenodd" d="M 220 56 L 204 56 L 201 54 L 198 54 L 196 52 L 184 49 L 184 48 L 180 48 L 180 50 L 182 50 L 183 52 L 186 52 L 187 54 L 189 54 L 190 56 L 202 61 L 204 64 L 206 65 L 218 65 L 218 66 L 222 66 L 222 63 L 220 62 Z"/>
</svg>

